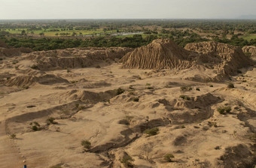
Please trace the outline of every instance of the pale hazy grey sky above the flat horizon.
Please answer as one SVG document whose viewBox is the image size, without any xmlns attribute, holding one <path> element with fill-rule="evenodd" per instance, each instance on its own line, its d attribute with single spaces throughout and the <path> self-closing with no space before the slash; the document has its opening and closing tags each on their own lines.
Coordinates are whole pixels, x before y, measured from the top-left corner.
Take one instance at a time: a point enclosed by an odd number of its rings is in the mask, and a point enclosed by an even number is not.
<svg viewBox="0 0 256 168">
<path fill-rule="evenodd" d="M 0 0 L 0 20 L 237 18 L 256 0 Z"/>
</svg>

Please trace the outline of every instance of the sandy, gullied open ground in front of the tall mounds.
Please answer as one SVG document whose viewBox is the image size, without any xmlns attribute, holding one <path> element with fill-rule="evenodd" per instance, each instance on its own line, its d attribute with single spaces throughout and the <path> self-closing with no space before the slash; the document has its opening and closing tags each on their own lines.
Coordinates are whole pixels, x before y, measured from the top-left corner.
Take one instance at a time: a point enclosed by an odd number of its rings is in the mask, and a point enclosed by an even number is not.
<svg viewBox="0 0 256 168">
<path fill-rule="evenodd" d="M 5 66 L 14 59 L 5 59 L 2 74 L 22 76 L 32 65 L 23 60 Z M 63 83 L 3 83 L 0 167 L 22 167 L 23 160 L 37 168 L 255 164 L 250 137 L 256 127 L 256 67 L 241 69 L 242 74 L 224 83 L 184 80 L 194 71 L 127 70 L 117 62 L 101 62 L 100 67 L 44 71 L 69 81 Z M 228 83 L 235 88 L 227 88 Z M 118 95 L 118 88 L 124 92 Z M 231 110 L 223 115 L 219 107 Z M 50 117 L 56 123 L 47 124 Z M 34 122 L 40 130 L 32 130 Z M 154 127 L 156 135 L 144 133 Z M 166 154 L 173 154 L 172 161 L 165 160 Z M 133 159 L 121 163 L 127 155 Z"/>
</svg>

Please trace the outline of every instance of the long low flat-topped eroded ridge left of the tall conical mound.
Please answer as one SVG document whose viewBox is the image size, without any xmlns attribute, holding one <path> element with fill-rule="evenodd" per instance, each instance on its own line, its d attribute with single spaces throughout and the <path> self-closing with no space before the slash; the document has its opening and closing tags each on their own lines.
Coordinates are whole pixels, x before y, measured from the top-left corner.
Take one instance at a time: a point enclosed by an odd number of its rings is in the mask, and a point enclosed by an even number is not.
<svg viewBox="0 0 256 168">
<path fill-rule="evenodd" d="M 80 49 L 56 49 L 50 51 L 32 52 L 25 59 L 35 61 L 34 68 L 49 70 L 51 68 L 85 68 L 95 62 L 114 60 L 121 58 L 130 48 L 80 48 Z"/>
</svg>

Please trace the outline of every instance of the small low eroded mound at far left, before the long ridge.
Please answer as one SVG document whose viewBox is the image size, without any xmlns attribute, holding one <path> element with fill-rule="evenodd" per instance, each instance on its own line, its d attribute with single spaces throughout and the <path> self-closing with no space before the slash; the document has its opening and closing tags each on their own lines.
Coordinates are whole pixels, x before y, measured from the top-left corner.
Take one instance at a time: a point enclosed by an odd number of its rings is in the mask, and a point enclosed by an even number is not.
<svg viewBox="0 0 256 168">
<path fill-rule="evenodd" d="M 5 82 L 5 86 L 31 86 L 34 83 L 52 85 L 55 83 L 69 83 L 69 81 L 61 77 L 56 77 L 53 74 L 46 74 L 39 77 L 33 75 L 23 75 L 7 80 Z"/>
</svg>

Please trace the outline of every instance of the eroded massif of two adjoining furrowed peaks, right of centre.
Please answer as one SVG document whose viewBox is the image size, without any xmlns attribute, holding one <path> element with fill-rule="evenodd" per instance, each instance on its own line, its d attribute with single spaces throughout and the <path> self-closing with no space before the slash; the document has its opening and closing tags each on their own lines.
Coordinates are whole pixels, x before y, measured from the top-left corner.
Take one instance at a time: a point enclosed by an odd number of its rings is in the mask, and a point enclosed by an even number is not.
<svg viewBox="0 0 256 168">
<path fill-rule="evenodd" d="M 187 50 L 186 50 L 187 49 Z M 237 46 L 224 43 L 189 43 L 185 48 L 172 40 L 154 40 L 127 53 L 121 60 L 122 68 L 178 69 L 200 68 L 215 74 L 235 74 L 238 68 L 250 65 L 250 60 Z"/>
</svg>

